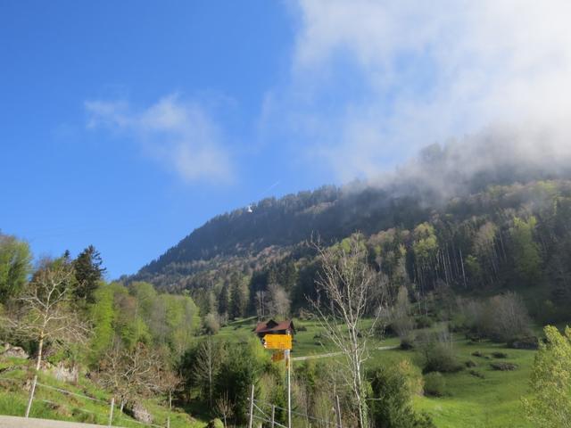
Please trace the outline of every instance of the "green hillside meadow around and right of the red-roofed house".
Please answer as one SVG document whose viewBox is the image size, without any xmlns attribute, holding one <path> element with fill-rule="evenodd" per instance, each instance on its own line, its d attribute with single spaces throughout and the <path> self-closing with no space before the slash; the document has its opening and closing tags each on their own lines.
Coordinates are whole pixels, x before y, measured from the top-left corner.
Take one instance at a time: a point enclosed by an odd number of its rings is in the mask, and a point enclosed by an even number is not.
<svg viewBox="0 0 571 428">
<path fill-rule="evenodd" d="M 307 331 L 298 332 L 295 336 L 293 356 L 320 354 L 333 350 L 331 346 L 319 345 L 314 336 L 319 333 L 319 325 L 312 322 L 297 322 Z M 241 341 L 252 334 L 253 320 L 249 318 L 223 327 L 217 337 L 227 341 Z M 435 327 L 437 328 L 437 327 Z M 415 351 L 403 350 L 375 350 L 382 345 L 394 345 L 399 341 L 389 338 L 385 341 L 370 342 L 371 358 L 368 366 L 378 364 L 396 364 L 401 359 L 408 358 L 417 365 L 422 364 L 422 358 Z M 476 363 L 475 370 L 484 374 L 484 379 L 476 377 L 462 370 L 457 374 L 445 374 L 448 395 L 442 398 L 418 397 L 414 405 L 418 410 L 425 411 L 432 416 L 439 428 L 524 428 L 531 427 L 525 421 L 520 406 L 520 399 L 528 391 L 528 380 L 534 362 L 534 351 L 509 350 L 492 343 L 471 343 L 460 334 L 454 336 L 454 349 L 459 362 L 472 360 Z M 472 352 L 479 350 L 488 358 L 472 356 Z M 508 358 L 498 360 L 492 358 L 493 351 L 501 350 L 508 354 Z M 492 370 L 493 361 L 506 361 L 516 363 L 519 367 L 513 372 L 499 372 Z"/>
</svg>

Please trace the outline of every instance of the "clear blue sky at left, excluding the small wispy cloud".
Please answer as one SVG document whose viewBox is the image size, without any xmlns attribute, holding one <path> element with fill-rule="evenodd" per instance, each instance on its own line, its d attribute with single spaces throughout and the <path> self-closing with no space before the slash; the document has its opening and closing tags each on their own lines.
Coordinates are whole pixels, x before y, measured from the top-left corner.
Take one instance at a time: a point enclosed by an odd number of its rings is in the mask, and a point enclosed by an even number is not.
<svg viewBox="0 0 571 428">
<path fill-rule="evenodd" d="M 317 184 L 257 136 L 292 49 L 282 4 L 2 2 L 0 40 L 0 227 L 37 255 L 93 243 L 110 277 L 132 273 L 277 181 L 279 194 Z M 228 182 L 181 180 L 131 136 L 87 127 L 88 100 L 145 109 L 172 94 L 212 104 L 239 158 Z"/>
</svg>

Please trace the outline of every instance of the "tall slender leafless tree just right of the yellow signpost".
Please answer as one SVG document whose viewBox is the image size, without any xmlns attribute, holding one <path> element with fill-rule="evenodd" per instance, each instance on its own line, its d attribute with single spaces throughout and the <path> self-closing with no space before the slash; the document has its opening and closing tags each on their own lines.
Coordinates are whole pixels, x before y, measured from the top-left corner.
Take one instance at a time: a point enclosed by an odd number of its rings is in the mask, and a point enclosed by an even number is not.
<svg viewBox="0 0 571 428">
<path fill-rule="evenodd" d="M 343 353 L 343 374 L 352 391 L 358 424 L 368 428 L 363 363 L 384 300 L 384 279 L 368 266 L 362 235 L 352 235 L 327 249 L 319 243 L 313 247 L 321 262 L 316 284 L 323 296 L 320 303 L 311 303 L 327 337 Z M 363 323 L 365 317 L 373 318 L 368 328 Z"/>
</svg>

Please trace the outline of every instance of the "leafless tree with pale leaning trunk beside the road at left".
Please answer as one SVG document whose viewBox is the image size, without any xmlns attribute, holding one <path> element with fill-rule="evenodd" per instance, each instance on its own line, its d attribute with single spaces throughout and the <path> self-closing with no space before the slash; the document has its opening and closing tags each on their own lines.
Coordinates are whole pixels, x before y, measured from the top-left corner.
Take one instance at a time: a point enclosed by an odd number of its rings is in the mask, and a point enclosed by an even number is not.
<svg viewBox="0 0 571 428">
<path fill-rule="evenodd" d="M 79 317 L 73 302 L 73 268 L 65 259 L 44 260 L 21 297 L 11 305 L 11 313 L 4 317 L 4 325 L 12 334 L 37 341 L 34 381 L 29 393 L 26 416 L 34 399 L 37 373 L 41 367 L 46 342 L 52 346 L 86 342 L 87 323 Z"/>
</svg>

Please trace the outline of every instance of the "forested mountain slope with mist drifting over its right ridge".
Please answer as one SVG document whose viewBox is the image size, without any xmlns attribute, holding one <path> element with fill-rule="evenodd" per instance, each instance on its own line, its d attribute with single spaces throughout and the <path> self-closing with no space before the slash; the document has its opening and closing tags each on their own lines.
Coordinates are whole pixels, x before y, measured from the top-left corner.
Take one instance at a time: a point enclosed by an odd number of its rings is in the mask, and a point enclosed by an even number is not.
<svg viewBox="0 0 571 428">
<path fill-rule="evenodd" d="M 375 182 L 269 198 L 252 212 L 212 218 L 131 279 L 189 289 L 203 313 L 227 312 L 229 302 L 240 300 L 236 316 L 252 313 L 256 293 L 275 283 L 295 310 L 312 294 L 319 271 L 303 243 L 312 235 L 329 244 L 360 232 L 370 263 L 419 298 L 443 285 L 463 292 L 542 285 L 542 301 L 566 302 L 571 176 L 565 165 L 502 155 L 505 146 L 486 149 L 482 142 L 478 150 L 493 161 L 468 163 L 474 147 L 429 146 Z"/>
</svg>

